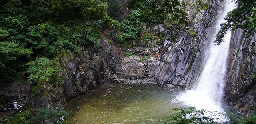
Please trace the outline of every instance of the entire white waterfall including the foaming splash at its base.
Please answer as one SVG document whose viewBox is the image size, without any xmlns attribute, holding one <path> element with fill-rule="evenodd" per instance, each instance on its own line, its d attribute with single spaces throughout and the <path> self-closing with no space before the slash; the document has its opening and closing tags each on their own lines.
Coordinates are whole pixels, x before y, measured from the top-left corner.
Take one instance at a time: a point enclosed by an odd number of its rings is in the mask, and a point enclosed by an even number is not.
<svg viewBox="0 0 256 124">
<path fill-rule="evenodd" d="M 187 90 L 180 94 L 176 100 L 183 102 L 185 106 L 194 106 L 197 109 L 205 109 L 211 112 L 222 112 L 221 99 L 225 86 L 224 76 L 226 74 L 226 64 L 228 58 L 228 50 L 230 46 L 231 31 L 229 31 L 221 45 L 215 46 L 213 43 L 214 35 L 220 29 L 220 24 L 225 22 L 224 17 L 227 12 L 235 8 L 232 0 L 224 0 L 225 6 L 218 14 L 218 21 L 215 32 L 210 38 L 210 49 L 206 50 L 206 60 L 204 68 L 198 77 L 196 85 L 192 90 Z"/>
</svg>

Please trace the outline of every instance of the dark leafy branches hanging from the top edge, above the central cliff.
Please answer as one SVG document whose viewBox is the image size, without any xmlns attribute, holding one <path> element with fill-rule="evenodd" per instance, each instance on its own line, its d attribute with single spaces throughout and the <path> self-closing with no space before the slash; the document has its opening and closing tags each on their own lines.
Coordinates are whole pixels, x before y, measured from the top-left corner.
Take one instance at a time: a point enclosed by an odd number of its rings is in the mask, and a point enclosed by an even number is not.
<svg viewBox="0 0 256 124">
<path fill-rule="evenodd" d="M 132 0 L 128 8 L 140 11 L 142 21 L 149 25 L 163 23 L 164 20 L 179 25 L 187 23 L 187 14 L 179 0 Z"/>
</svg>

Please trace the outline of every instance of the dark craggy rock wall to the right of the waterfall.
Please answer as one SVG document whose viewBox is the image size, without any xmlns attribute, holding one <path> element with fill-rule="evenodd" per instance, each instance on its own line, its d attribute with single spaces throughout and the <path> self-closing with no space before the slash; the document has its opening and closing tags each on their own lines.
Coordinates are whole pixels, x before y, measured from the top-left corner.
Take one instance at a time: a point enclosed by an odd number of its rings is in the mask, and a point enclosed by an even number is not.
<svg viewBox="0 0 256 124">
<path fill-rule="evenodd" d="M 256 106 L 256 36 L 244 38 L 246 32 L 232 32 L 225 99 L 242 114 L 250 115 Z"/>
</svg>

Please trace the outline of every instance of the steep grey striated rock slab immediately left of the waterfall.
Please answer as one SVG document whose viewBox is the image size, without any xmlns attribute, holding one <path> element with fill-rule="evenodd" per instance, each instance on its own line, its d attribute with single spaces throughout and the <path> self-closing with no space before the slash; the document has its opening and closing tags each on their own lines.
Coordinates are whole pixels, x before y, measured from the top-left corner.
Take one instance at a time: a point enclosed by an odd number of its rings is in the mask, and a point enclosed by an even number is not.
<svg viewBox="0 0 256 124">
<path fill-rule="evenodd" d="M 208 10 L 201 10 L 194 19 L 196 33 L 192 35 L 189 29 L 180 32 L 177 43 L 165 41 L 165 52 L 154 76 L 154 81 L 161 85 L 190 88 L 198 76 L 204 58 L 204 48 L 208 41 L 211 26 L 216 22 L 216 16 L 222 0 L 212 0 Z M 190 29 L 191 30 L 191 29 Z M 168 32 L 166 32 L 168 35 Z"/>
</svg>

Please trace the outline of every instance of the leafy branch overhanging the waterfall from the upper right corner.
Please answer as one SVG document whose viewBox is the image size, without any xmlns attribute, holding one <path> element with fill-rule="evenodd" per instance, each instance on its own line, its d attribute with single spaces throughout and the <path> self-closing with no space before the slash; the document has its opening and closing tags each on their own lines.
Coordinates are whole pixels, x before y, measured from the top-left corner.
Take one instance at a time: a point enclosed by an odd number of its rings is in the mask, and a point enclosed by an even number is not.
<svg viewBox="0 0 256 124">
<path fill-rule="evenodd" d="M 216 36 L 215 44 L 220 45 L 228 32 L 238 28 L 245 29 L 247 36 L 256 32 L 256 0 L 234 0 L 237 8 L 233 9 L 225 17 L 226 22 L 221 24 L 220 31 Z"/>
</svg>

